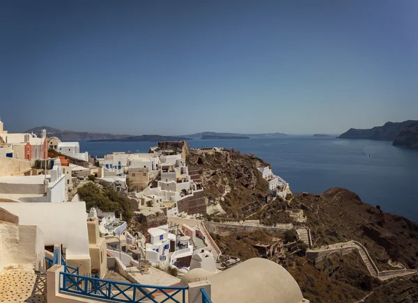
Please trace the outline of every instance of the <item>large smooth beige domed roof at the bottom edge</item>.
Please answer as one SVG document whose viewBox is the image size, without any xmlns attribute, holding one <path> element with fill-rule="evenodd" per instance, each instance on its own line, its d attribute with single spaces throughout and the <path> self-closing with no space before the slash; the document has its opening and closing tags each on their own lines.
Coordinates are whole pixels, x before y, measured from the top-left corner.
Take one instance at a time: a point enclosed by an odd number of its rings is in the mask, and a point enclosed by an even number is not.
<svg viewBox="0 0 418 303">
<path fill-rule="evenodd" d="M 192 272 L 194 270 L 189 274 Z M 200 274 L 204 273 L 200 272 Z M 301 303 L 304 301 L 302 292 L 291 274 L 281 265 L 263 258 L 251 258 L 229 270 L 213 274 L 208 280 L 212 284 L 212 302 Z"/>
</svg>

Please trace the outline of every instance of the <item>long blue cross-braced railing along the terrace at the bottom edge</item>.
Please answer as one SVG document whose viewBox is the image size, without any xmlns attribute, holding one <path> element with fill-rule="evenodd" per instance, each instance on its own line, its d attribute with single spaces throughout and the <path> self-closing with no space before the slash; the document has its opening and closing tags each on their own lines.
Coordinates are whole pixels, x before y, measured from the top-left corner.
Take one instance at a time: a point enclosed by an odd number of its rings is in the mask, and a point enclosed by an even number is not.
<svg viewBox="0 0 418 303">
<path fill-rule="evenodd" d="M 60 275 L 62 278 L 60 290 L 66 293 L 128 303 L 186 302 L 187 287 L 124 283 L 68 274 L 67 272 L 60 272 Z M 178 294 L 180 295 L 174 298 Z M 158 300 L 155 300 L 156 296 L 159 297 Z"/>
</svg>

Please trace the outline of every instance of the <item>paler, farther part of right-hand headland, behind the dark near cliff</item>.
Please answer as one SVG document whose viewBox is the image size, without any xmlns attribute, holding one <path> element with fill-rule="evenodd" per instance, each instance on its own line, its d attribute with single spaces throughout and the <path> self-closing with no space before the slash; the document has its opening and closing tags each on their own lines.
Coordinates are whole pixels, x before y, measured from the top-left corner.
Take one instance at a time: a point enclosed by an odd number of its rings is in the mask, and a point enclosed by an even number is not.
<svg viewBox="0 0 418 303">
<path fill-rule="evenodd" d="M 371 139 L 371 140 L 394 140 L 404 128 L 418 123 L 418 121 L 387 122 L 385 125 L 376 126 L 370 129 L 350 128 L 339 136 L 343 139 Z"/>
</svg>

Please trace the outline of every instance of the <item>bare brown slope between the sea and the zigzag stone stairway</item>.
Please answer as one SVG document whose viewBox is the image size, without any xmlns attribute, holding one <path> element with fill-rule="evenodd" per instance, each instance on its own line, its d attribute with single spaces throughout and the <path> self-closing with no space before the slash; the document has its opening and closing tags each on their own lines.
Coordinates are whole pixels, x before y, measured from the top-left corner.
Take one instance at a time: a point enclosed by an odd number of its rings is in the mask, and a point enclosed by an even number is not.
<svg viewBox="0 0 418 303">
<path fill-rule="evenodd" d="M 347 189 L 296 194 L 292 207 L 304 209 L 316 246 L 357 240 L 369 249 L 380 270 L 389 269 L 389 258 L 410 268 L 418 265 L 418 224 L 366 204 Z"/>
</svg>

